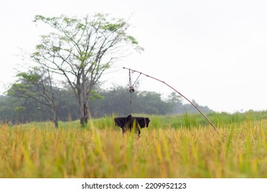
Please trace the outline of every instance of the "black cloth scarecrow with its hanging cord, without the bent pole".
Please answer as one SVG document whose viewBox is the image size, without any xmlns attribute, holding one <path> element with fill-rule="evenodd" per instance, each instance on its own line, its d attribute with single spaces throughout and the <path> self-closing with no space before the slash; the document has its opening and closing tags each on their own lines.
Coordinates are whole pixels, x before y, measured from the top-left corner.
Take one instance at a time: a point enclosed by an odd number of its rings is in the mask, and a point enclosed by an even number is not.
<svg viewBox="0 0 267 192">
<path fill-rule="evenodd" d="M 149 126 L 149 118 L 148 117 L 132 117 L 131 116 L 131 94 L 134 93 L 134 84 L 136 84 L 138 78 L 140 77 L 141 73 L 137 77 L 136 81 L 131 84 L 131 69 L 129 69 L 129 93 L 130 93 L 130 115 L 127 117 L 116 117 L 114 119 L 116 126 L 120 127 L 123 130 L 123 134 L 127 130 L 134 130 L 138 132 L 138 135 L 141 134 L 142 128 L 147 128 Z"/>
</svg>

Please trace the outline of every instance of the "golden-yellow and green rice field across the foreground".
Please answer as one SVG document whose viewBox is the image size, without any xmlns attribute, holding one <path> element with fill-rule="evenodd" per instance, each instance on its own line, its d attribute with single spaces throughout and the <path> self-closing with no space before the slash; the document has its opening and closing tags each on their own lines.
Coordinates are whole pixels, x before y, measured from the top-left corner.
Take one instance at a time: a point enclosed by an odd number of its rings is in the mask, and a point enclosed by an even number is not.
<svg viewBox="0 0 267 192">
<path fill-rule="evenodd" d="M 266 112 L 147 116 L 122 135 L 114 116 L 0 125 L 0 178 L 267 178 Z"/>
</svg>

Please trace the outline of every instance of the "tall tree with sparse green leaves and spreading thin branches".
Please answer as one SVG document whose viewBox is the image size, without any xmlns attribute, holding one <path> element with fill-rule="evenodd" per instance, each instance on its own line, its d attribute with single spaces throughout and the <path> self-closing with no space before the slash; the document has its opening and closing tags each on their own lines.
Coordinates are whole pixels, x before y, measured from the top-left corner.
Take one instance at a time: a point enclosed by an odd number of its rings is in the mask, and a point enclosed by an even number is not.
<svg viewBox="0 0 267 192">
<path fill-rule="evenodd" d="M 84 18 L 37 15 L 34 22 L 49 25 L 53 32 L 41 36 L 31 57 L 65 77 L 79 101 L 80 123 L 85 125 L 90 94 L 103 72 L 119 58 L 142 48 L 127 33 L 127 21 L 112 19 L 107 14 Z"/>
</svg>

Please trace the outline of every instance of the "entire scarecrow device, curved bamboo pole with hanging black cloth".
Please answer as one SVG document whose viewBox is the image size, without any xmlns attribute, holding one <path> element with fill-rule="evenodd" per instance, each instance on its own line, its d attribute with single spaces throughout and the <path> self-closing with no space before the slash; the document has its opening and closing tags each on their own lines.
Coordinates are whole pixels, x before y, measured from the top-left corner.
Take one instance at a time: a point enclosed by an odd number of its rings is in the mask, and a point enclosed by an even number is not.
<svg viewBox="0 0 267 192">
<path fill-rule="evenodd" d="M 166 84 L 166 82 L 159 80 L 155 77 L 151 77 L 149 75 L 146 75 L 144 73 L 141 73 L 139 71 L 133 70 L 133 69 L 129 69 L 126 67 L 123 67 L 123 69 L 127 69 L 129 70 L 129 93 L 130 93 L 130 115 L 128 117 L 116 117 L 114 119 L 116 126 L 119 126 L 120 128 L 122 128 L 123 133 L 126 132 L 126 130 L 132 130 L 133 127 L 135 127 L 136 130 L 138 130 L 138 134 L 140 134 L 140 128 L 147 128 L 149 126 L 149 118 L 147 117 L 132 117 L 131 116 L 131 93 L 134 92 L 134 84 L 136 83 L 136 81 L 138 80 L 138 78 L 140 77 L 140 75 L 145 75 L 147 77 L 152 78 L 153 80 L 157 80 L 159 82 L 162 82 L 163 84 Z M 136 81 L 131 84 L 131 71 L 133 72 L 137 72 L 139 73 L 139 76 L 137 77 Z M 190 104 L 192 104 L 192 106 L 194 106 L 194 108 L 196 108 L 196 110 L 198 110 L 201 115 L 203 115 L 203 117 L 205 117 L 205 119 L 209 122 L 210 125 L 212 125 L 212 128 L 214 128 L 214 130 L 219 134 L 217 128 L 215 127 L 215 125 L 212 123 L 212 121 L 210 121 L 207 116 L 194 104 L 192 103 L 192 101 L 190 101 L 188 98 L 186 98 L 184 95 L 182 95 L 181 93 L 179 93 L 179 91 L 177 91 L 175 88 L 173 88 L 172 86 L 170 86 L 169 84 L 166 84 L 166 86 L 170 87 L 173 89 L 173 91 L 175 91 L 176 93 L 178 93 L 179 95 L 181 95 L 181 97 L 183 97 L 184 99 L 186 99 Z M 220 134 L 219 134 L 220 135 Z"/>
</svg>

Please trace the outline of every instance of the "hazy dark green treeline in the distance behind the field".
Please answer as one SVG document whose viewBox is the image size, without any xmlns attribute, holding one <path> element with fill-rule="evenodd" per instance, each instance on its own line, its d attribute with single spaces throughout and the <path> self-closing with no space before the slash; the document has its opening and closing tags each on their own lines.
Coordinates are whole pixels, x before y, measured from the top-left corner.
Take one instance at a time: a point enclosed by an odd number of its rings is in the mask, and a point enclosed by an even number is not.
<svg viewBox="0 0 267 192">
<path fill-rule="evenodd" d="M 79 119 L 79 106 L 77 98 L 68 88 L 53 88 L 57 101 L 57 113 L 60 121 Z M 94 91 L 90 98 L 90 112 L 92 117 L 105 115 L 127 116 L 132 113 L 147 115 L 183 114 L 194 113 L 197 110 L 191 104 L 183 104 L 176 93 L 171 93 L 166 99 L 160 93 L 149 91 L 135 91 L 131 94 L 128 88 L 117 86 L 109 90 L 99 89 Z M 196 102 L 193 100 L 194 104 Z M 212 112 L 207 106 L 199 106 L 203 112 Z M 12 123 L 25 123 L 30 121 L 51 120 L 51 110 L 30 98 L 18 98 L 8 95 L 0 96 L 0 121 Z"/>
</svg>

